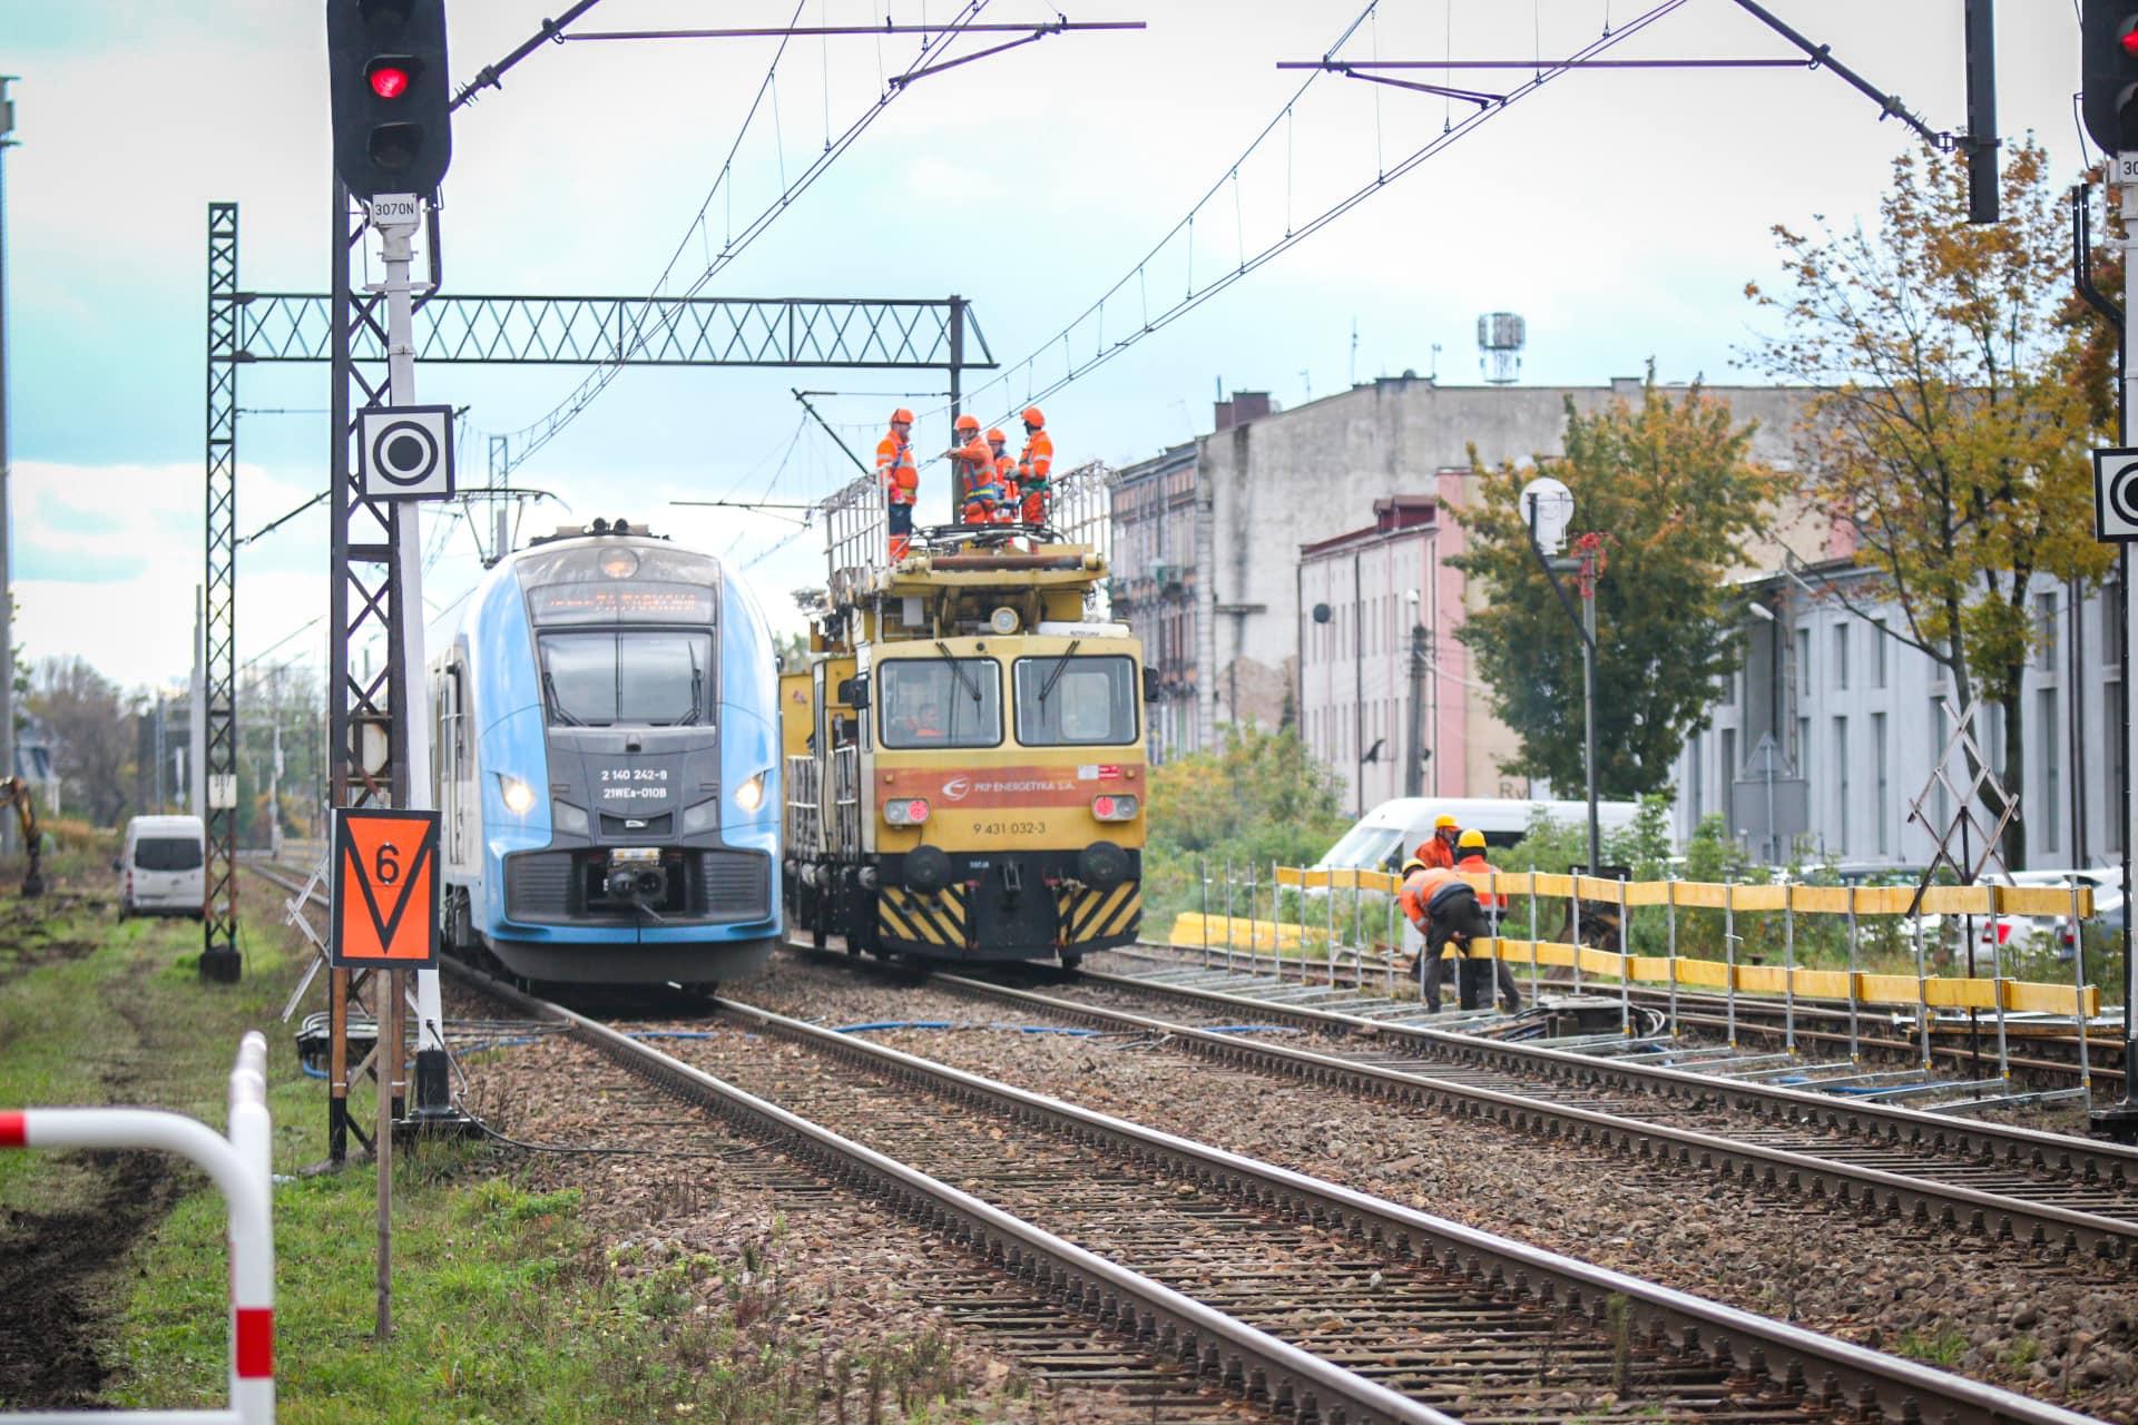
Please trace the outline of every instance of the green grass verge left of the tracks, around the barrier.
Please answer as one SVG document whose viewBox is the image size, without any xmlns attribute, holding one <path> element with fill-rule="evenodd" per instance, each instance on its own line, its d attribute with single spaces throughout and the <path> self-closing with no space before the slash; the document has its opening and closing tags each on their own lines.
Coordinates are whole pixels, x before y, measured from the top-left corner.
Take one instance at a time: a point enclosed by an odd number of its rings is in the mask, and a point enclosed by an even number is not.
<svg viewBox="0 0 2138 1425">
<path fill-rule="evenodd" d="M 956 1393 L 939 1389 L 928 1342 L 881 1340 L 859 1359 L 783 1335 L 783 1314 L 742 1265 L 620 1273 L 579 1220 L 577 1192 L 532 1192 L 483 1145 L 396 1156 L 396 1331 L 374 1340 L 374 1173 L 295 1175 L 325 1139 L 325 1085 L 299 1072 L 276 1021 L 304 959 L 265 887 L 250 880 L 244 893 L 239 985 L 199 981 L 197 923 L 115 921 L 98 878 L 43 906 L 0 902 L 0 1105 L 143 1102 L 220 1130 L 237 1038 L 267 1032 L 284 1175 L 274 1192 L 280 1419 L 806 1421 L 855 1372 L 870 1384 L 881 1376 L 894 1399 L 911 1391 L 924 1412 L 921 1401 Z M 351 1107 L 370 1122 L 370 1096 Z M 28 1213 L 17 1231 L 34 1231 L 109 1192 L 109 1175 L 73 1154 L 0 1154 L 0 1205 Z M 188 1408 L 224 1393 L 222 1199 L 190 1169 L 171 1196 L 169 1213 L 150 1213 L 94 1280 L 66 1284 L 90 1307 L 105 1404 Z"/>
</svg>

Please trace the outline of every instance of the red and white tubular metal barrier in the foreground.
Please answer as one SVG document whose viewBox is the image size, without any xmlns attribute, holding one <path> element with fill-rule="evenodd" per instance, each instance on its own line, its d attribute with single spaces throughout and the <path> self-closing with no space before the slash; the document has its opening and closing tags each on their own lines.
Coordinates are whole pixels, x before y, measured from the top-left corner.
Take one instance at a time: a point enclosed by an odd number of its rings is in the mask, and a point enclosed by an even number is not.
<svg viewBox="0 0 2138 1425">
<path fill-rule="evenodd" d="M 274 1421 L 274 1216 L 267 1040 L 246 1034 L 231 1068 L 231 1137 L 160 1109 L 0 1109 L 6 1147 L 154 1147 L 192 1160 L 231 1213 L 231 1404 L 227 1410 L 64 1410 L 0 1414 L 30 1421 L 269 1425 Z"/>
</svg>

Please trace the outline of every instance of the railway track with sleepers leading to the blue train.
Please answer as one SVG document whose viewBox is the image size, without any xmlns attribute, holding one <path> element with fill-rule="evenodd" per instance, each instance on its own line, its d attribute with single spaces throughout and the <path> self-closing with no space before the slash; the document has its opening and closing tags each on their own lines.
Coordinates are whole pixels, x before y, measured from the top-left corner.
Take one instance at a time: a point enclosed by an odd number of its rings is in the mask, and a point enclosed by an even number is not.
<svg viewBox="0 0 2138 1425">
<path fill-rule="evenodd" d="M 748 1004 L 686 1062 L 453 972 L 1298 1421 L 2087 1419 Z"/>
</svg>

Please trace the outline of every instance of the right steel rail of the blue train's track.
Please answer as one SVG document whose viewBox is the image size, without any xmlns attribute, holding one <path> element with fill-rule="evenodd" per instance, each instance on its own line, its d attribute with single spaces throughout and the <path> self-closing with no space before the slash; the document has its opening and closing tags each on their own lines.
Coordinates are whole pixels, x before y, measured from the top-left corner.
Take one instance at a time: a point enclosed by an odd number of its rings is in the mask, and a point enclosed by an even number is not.
<svg viewBox="0 0 2138 1425">
<path fill-rule="evenodd" d="M 930 976 L 930 981 L 941 978 L 945 976 Z M 1740 1372 L 1753 1378 L 1772 1378 L 1779 1372 L 1779 1378 L 1792 1389 L 1809 1391 L 1826 1406 L 1852 1404 L 1860 1412 L 1879 1410 L 1894 1421 L 2059 1421 L 2070 1425 L 2089 1419 L 1980 1380 L 1950 1376 L 1783 1320 L 1494 1237 L 1388 1199 L 1020 1090 L 853 1034 L 804 1023 L 740 1000 L 721 998 L 716 1004 L 725 1015 L 783 1038 L 870 1064 L 951 1098 L 996 1107 L 1020 1122 L 1073 1139 L 1118 1145 L 1172 1175 L 1221 1186 L 1281 1213 L 1334 1226 L 1379 1243 L 1396 1256 L 1435 1260 L 1443 1269 L 1460 1271 L 1492 1290 L 1586 1314 L 1591 1322 L 1606 1318 L 1610 1299 L 1623 1299 L 1633 1318 L 1636 1340 L 1674 1346 L 1687 1354 L 1704 1352 L 1717 1363 L 1734 1361 Z M 1355 1066 L 1345 1060 L 1326 1060 L 1323 1064 L 1326 1072 L 1349 1068 Z M 1516 1105 L 1533 1107 L 1522 1100 Z"/>
</svg>

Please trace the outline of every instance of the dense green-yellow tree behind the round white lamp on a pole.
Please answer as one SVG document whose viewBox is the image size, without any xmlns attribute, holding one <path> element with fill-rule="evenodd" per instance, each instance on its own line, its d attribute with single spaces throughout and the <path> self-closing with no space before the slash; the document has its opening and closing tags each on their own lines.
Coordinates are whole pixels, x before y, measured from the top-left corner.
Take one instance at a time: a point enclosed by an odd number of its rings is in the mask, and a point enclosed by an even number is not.
<svg viewBox="0 0 2138 1425">
<path fill-rule="evenodd" d="M 1764 528 L 1783 476 L 1751 459 L 1753 425 L 1695 385 L 1670 400 L 1580 414 L 1567 402 L 1565 457 L 1539 455 L 1574 491 L 1574 530 L 1597 530 L 1597 793 L 1663 790 L 1685 737 L 1706 726 L 1717 679 L 1736 671 L 1742 598 L 1723 581 Z M 1450 560 L 1482 585 L 1460 639 L 1492 686 L 1492 711 L 1522 739 L 1514 776 L 1582 784 L 1582 643 L 1529 543 L 1518 496 L 1535 474 L 1486 470 L 1456 511 L 1469 549 Z"/>
</svg>

